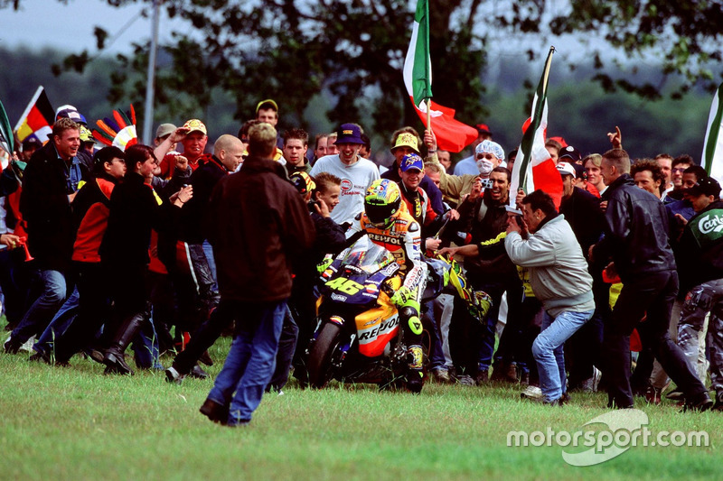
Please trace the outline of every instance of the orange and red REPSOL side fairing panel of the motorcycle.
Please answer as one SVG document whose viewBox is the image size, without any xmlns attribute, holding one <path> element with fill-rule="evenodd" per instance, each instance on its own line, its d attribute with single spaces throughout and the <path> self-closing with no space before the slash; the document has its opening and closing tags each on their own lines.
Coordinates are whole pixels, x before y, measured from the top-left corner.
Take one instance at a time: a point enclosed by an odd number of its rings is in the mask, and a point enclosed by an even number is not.
<svg viewBox="0 0 723 481">
<path fill-rule="evenodd" d="M 399 283 L 397 279 L 394 281 Z M 399 289 L 399 285 L 395 287 Z M 399 312 L 384 292 L 380 292 L 379 304 L 378 307 L 366 310 L 354 319 L 359 341 L 359 354 L 362 356 L 382 356 L 384 347 L 399 333 Z"/>
</svg>

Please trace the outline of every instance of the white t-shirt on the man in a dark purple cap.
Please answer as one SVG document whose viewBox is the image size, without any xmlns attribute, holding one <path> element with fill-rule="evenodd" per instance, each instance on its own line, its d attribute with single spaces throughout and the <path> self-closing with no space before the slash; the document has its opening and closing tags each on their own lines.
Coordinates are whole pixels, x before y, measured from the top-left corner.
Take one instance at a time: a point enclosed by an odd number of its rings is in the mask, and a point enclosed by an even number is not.
<svg viewBox="0 0 723 481">
<path fill-rule="evenodd" d="M 339 154 L 324 155 L 316 161 L 311 170 L 312 177 L 319 172 L 329 172 L 342 180 L 339 205 L 332 210 L 332 220 L 337 224 L 351 223 L 357 214 L 363 212 L 364 195 L 371 182 L 380 178 L 374 162 L 359 157 L 358 162 L 345 165 Z"/>
</svg>

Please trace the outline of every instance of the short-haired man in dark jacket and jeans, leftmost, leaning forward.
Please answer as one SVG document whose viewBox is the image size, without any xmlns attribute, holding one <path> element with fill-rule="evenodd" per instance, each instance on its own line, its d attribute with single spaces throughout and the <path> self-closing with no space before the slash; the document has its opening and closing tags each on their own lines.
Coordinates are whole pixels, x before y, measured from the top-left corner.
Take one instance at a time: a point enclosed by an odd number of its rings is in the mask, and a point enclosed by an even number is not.
<svg viewBox="0 0 723 481">
<path fill-rule="evenodd" d="M 23 173 L 20 210 L 27 223 L 28 247 L 40 271 L 42 294 L 5 342 L 16 353 L 25 341 L 40 334 L 67 297 L 67 276 L 73 252 L 70 204 L 88 170 L 77 157 L 80 126 L 61 118 L 52 126 L 52 140 L 33 153 Z"/>
</svg>

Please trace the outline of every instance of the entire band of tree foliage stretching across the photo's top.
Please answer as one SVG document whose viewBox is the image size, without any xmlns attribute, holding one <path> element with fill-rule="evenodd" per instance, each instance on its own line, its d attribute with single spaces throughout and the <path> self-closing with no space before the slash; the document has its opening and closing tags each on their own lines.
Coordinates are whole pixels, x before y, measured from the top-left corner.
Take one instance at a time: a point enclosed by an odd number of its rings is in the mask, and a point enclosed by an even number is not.
<svg viewBox="0 0 723 481">
<path fill-rule="evenodd" d="M 0 0 L 0 8 L 19 3 Z M 468 124 L 488 115 L 484 67 L 492 34 L 534 39 L 528 42 L 530 60 L 547 51 L 548 41 L 572 37 L 594 60 L 594 79 L 606 91 L 620 88 L 653 99 L 665 91 L 680 97 L 694 85 L 712 88 L 718 81 L 711 65 L 721 57 L 720 0 L 429 3 L 434 96 L 439 104 L 455 107 Z M 331 94 L 335 103 L 324 115 L 333 123 L 364 118 L 373 121 L 369 126 L 375 131 L 390 132 L 417 122 L 401 76 L 415 0 L 165 0 L 162 5 L 189 28 L 162 45 L 155 88 L 161 112 L 198 116 L 222 91 L 233 98 L 239 121 L 253 114 L 259 99 L 272 97 L 287 125 L 305 125 L 307 109 L 318 105 L 312 99 Z M 102 50 L 108 32 L 96 28 L 96 37 Z M 111 73 L 111 102 L 142 106 L 147 55 L 147 42 L 135 44 L 133 54 L 118 55 L 123 69 Z M 53 70 L 80 72 L 93 58 L 87 50 L 74 53 Z M 664 74 L 685 81 L 671 90 L 664 82 L 636 80 L 630 75 L 637 70 L 635 61 L 661 61 Z M 370 97 L 372 102 L 362 101 Z"/>
</svg>

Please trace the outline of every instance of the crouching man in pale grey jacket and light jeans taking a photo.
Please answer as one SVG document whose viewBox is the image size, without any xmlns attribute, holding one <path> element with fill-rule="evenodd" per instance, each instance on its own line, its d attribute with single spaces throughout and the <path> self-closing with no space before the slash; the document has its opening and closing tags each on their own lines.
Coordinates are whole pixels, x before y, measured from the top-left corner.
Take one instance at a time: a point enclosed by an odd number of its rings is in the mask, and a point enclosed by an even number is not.
<svg viewBox="0 0 723 481">
<path fill-rule="evenodd" d="M 545 310 L 532 343 L 541 401 L 562 404 L 567 397 L 562 345 L 593 316 L 593 279 L 572 228 L 548 194 L 535 190 L 518 200 L 518 207 L 522 216 L 511 213 L 504 247 L 514 264 L 530 270 L 532 291 Z"/>
</svg>

